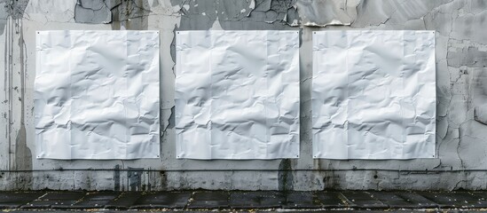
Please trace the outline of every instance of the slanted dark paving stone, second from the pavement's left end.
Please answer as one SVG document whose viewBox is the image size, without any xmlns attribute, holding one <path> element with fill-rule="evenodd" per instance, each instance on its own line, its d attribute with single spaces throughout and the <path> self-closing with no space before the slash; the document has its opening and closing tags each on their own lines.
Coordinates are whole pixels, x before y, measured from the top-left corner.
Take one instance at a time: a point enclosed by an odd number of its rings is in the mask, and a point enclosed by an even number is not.
<svg viewBox="0 0 487 213">
<path fill-rule="evenodd" d="M 49 192 L 35 201 L 21 206 L 22 209 L 56 209 L 74 204 L 86 195 L 86 192 Z"/>
</svg>

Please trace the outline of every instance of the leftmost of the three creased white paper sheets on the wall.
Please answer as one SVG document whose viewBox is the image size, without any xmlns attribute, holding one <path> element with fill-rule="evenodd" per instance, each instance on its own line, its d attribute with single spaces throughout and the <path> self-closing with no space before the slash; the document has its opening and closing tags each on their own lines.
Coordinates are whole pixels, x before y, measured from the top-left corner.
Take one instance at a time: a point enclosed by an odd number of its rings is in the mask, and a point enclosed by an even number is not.
<svg viewBox="0 0 487 213">
<path fill-rule="evenodd" d="M 38 158 L 159 157 L 159 33 L 39 31 Z"/>
</svg>

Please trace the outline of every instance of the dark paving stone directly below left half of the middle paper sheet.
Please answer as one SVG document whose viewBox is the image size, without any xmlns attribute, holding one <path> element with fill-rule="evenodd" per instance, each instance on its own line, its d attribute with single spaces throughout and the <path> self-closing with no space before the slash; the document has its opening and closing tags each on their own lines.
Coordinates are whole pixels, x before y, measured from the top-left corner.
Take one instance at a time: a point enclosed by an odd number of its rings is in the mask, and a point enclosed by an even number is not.
<svg viewBox="0 0 487 213">
<path fill-rule="evenodd" d="M 188 209 L 224 209 L 230 206 L 228 192 L 196 192 L 192 194 L 192 201 Z"/>
</svg>

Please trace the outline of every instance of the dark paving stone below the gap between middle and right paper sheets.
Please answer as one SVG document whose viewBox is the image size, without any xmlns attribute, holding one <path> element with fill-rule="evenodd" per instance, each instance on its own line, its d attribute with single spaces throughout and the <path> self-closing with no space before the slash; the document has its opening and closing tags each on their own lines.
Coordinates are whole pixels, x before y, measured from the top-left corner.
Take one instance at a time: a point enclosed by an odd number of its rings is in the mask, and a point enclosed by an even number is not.
<svg viewBox="0 0 487 213">
<path fill-rule="evenodd" d="M 289 192 L 284 193 L 286 202 L 282 205 L 285 209 L 319 209 L 322 208 L 318 198 L 313 192 Z"/>
</svg>

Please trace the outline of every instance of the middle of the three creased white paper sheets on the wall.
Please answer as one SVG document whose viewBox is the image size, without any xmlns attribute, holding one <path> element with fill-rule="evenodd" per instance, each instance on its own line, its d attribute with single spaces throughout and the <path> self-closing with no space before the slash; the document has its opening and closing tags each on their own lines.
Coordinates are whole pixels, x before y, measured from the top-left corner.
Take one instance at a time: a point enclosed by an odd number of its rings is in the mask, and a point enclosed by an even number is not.
<svg viewBox="0 0 487 213">
<path fill-rule="evenodd" d="M 299 157 L 298 31 L 177 32 L 177 158 Z"/>
</svg>

